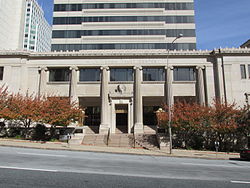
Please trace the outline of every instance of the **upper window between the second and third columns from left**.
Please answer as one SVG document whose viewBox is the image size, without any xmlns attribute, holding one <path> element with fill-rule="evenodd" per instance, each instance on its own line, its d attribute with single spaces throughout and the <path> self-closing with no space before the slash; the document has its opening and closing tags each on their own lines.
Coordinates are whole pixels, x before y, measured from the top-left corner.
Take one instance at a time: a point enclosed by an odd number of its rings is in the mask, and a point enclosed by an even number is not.
<svg viewBox="0 0 250 188">
<path fill-rule="evenodd" d="M 100 81 L 100 69 L 80 69 L 80 82 Z"/>
</svg>

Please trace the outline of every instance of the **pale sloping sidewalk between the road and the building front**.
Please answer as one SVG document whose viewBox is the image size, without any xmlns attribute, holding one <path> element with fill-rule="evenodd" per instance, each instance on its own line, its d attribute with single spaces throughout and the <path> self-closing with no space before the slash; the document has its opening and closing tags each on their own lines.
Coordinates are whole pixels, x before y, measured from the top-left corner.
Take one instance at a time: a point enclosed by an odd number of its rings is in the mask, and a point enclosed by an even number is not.
<svg viewBox="0 0 250 188">
<path fill-rule="evenodd" d="M 106 153 L 120 153 L 120 154 L 135 154 L 135 155 L 151 155 L 151 156 L 167 156 L 167 157 L 188 157 L 188 158 L 203 158 L 203 159 L 224 159 L 239 158 L 238 153 L 225 153 L 213 151 L 197 151 L 197 150 L 180 150 L 173 149 L 173 154 L 162 150 L 146 150 L 134 148 L 121 147 L 98 147 L 86 145 L 68 145 L 61 142 L 34 142 L 27 140 L 16 139 L 0 139 L 0 146 L 23 147 L 23 148 L 37 148 L 49 150 L 70 150 L 70 151 L 91 151 L 91 152 L 106 152 Z"/>
</svg>

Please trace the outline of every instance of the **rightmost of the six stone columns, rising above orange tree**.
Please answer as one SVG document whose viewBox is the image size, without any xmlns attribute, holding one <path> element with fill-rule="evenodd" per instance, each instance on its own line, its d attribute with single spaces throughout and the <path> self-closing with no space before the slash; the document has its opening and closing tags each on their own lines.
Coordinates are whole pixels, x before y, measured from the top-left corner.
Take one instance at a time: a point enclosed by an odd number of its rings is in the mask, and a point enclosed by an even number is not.
<svg viewBox="0 0 250 188">
<path fill-rule="evenodd" d="M 196 90 L 197 90 L 198 103 L 200 105 L 205 105 L 205 88 L 204 88 L 204 77 L 203 77 L 204 67 L 198 66 L 196 67 L 196 69 L 197 69 Z"/>
</svg>

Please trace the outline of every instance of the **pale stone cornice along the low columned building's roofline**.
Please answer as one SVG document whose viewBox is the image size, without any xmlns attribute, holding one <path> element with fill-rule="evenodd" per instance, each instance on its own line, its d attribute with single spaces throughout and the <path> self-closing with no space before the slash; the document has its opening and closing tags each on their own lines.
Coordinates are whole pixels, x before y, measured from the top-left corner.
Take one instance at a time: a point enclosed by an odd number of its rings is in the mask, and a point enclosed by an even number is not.
<svg viewBox="0 0 250 188">
<path fill-rule="evenodd" d="M 29 59 L 49 58 L 164 58 L 164 57 L 208 57 L 210 55 L 249 55 L 249 48 L 224 48 L 209 50 L 85 50 L 85 51 L 56 51 L 56 52 L 29 52 L 29 51 L 0 51 L 0 57 L 27 57 Z"/>
</svg>

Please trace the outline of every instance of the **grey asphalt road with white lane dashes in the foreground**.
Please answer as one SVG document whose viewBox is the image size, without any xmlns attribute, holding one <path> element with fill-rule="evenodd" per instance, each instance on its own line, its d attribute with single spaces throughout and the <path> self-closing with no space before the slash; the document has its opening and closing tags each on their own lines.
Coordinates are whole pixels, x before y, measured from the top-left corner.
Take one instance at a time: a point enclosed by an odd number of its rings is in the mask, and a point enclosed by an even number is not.
<svg viewBox="0 0 250 188">
<path fill-rule="evenodd" d="M 250 187 L 250 162 L 0 147 L 0 187 Z"/>
</svg>

